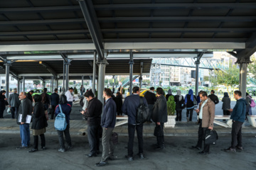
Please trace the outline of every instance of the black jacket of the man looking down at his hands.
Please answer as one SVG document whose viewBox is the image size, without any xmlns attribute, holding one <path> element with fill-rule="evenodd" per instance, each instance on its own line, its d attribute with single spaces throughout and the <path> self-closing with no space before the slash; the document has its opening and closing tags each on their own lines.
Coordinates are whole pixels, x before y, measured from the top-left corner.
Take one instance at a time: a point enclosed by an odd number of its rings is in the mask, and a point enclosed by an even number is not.
<svg viewBox="0 0 256 170">
<path fill-rule="evenodd" d="M 92 98 L 88 102 L 87 111 L 84 115 L 88 118 L 88 125 L 100 125 L 100 115 L 102 114 L 102 103 L 97 98 Z"/>
</svg>

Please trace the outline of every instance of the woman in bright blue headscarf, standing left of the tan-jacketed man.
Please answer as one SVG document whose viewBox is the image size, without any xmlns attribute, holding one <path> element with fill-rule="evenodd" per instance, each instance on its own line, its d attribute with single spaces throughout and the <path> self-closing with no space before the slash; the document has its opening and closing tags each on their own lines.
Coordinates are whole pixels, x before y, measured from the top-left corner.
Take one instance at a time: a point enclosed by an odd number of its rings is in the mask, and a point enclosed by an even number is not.
<svg viewBox="0 0 256 170">
<path fill-rule="evenodd" d="M 195 105 L 193 103 L 193 101 L 196 100 L 196 96 L 193 95 L 193 90 L 190 89 L 188 91 L 188 94 L 186 94 L 186 97 L 185 97 L 185 104 L 186 104 L 186 118 L 187 118 L 187 122 L 188 121 L 192 121 L 192 116 L 193 116 L 193 109 L 195 108 Z M 188 115 L 189 115 L 189 118 L 188 118 Z"/>
</svg>

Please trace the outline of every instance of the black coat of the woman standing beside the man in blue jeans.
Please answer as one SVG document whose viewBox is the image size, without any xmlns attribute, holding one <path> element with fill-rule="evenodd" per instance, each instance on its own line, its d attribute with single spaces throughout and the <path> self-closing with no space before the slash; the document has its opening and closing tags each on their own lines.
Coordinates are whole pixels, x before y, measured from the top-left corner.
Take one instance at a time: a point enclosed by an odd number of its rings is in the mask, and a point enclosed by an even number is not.
<svg viewBox="0 0 256 170">
<path fill-rule="evenodd" d="M 41 130 L 47 127 L 46 114 L 43 111 L 43 103 L 36 102 L 32 114 L 31 129 Z"/>
</svg>

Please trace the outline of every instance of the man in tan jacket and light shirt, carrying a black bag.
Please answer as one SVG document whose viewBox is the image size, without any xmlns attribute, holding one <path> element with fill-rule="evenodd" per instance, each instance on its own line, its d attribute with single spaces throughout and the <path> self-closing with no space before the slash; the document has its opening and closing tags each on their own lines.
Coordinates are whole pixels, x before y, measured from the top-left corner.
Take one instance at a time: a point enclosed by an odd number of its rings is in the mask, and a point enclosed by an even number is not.
<svg viewBox="0 0 256 170">
<path fill-rule="evenodd" d="M 208 98 L 206 91 L 201 91 L 199 94 L 201 98 L 200 108 L 196 109 L 196 113 L 199 113 L 199 128 L 198 128 L 198 142 L 196 147 L 192 148 L 201 149 L 204 141 L 206 130 L 213 130 L 213 120 L 215 117 L 215 104 Z M 203 151 L 199 154 L 210 154 L 210 145 L 203 145 Z"/>
</svg>

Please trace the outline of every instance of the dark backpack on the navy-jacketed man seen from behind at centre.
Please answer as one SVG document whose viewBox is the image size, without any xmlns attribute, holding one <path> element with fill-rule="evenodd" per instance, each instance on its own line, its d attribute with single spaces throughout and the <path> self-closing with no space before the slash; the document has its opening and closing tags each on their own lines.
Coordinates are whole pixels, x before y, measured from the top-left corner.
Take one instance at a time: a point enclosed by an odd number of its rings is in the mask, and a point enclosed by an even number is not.
<svg viewBox="0 0 256 170">
<path fill-rule="evenodd" d="M 143 98 L 139 97 L 139 107 L 136 115 L 136 123 L 145 123 L 149 120 L 149 107 L 143 103 Z"/>
</svg>

